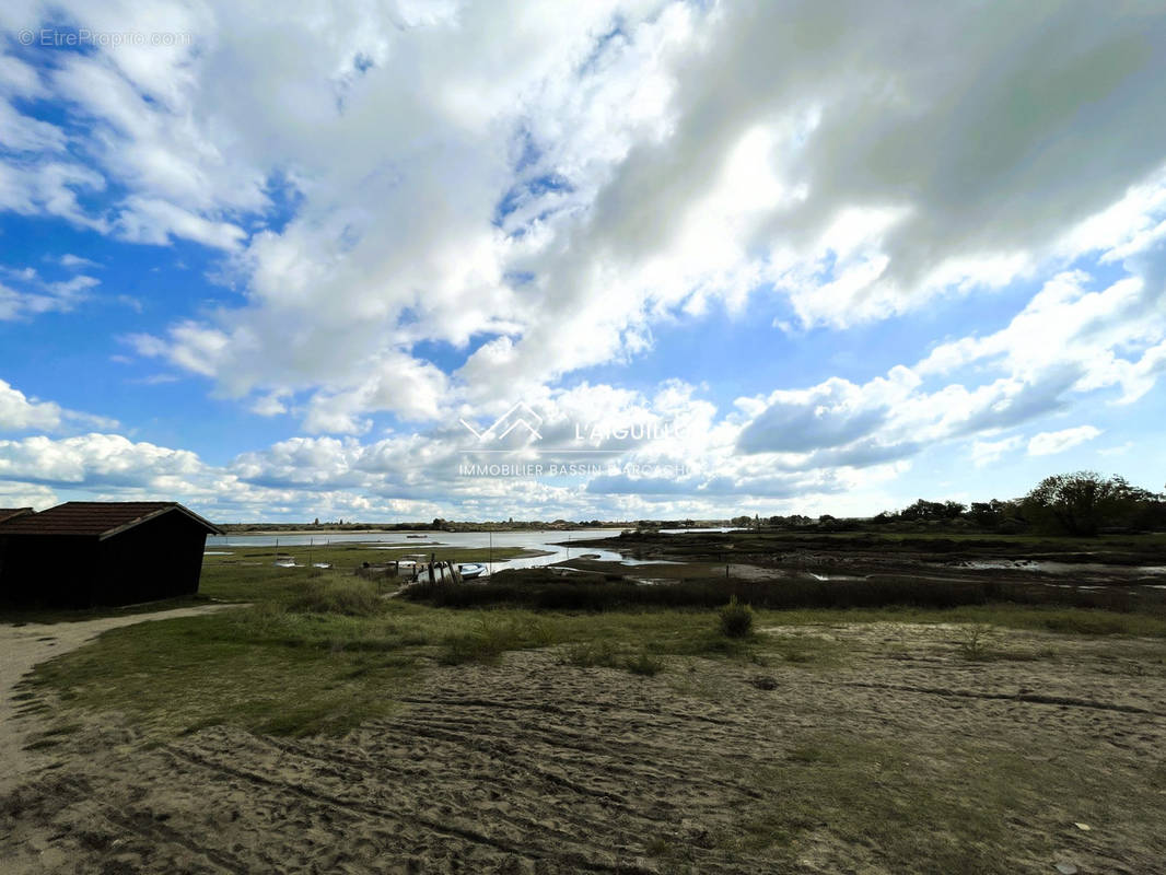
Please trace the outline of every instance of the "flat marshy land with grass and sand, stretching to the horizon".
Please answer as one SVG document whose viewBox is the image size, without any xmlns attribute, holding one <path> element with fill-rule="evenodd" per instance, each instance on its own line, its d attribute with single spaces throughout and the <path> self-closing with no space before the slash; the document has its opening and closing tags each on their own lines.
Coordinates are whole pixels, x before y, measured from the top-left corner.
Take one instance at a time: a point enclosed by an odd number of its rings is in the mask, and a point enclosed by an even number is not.
<svg viewBox="0 0 1166 875">
<path fill-rule="evenodd" d="M 493 564 L 461 584 L 394 576 L 385 544 L 209 547 L 198 596 L 153 606 L 195 616 L 111 629 L 7 693 L 22 775 L 0 805 L 0 862 L 1014 873 L 1166 859 L 1163 536 L 597 534 L 514 569 L 522 547 L 434 534 L 430 559 Z M 611 554 L 637 561 L 590 558 Z M 1088 582 L 1061 568 L 1074 564 Z M 0 628 L 52 638 L 110 614 Z"/>
</svg>

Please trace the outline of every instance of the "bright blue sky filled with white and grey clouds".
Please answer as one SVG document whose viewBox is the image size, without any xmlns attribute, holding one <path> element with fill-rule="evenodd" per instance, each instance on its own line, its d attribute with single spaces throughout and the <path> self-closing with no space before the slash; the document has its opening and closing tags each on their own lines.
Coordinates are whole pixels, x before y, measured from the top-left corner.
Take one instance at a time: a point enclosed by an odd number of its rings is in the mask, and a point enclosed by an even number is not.
<svg viewBox="0 0 1166 875">
<path fill-rule="evenodd" d="M 1158 2 L 6 0 L 0 506 L 1166 483 Z"/>
</svg>

